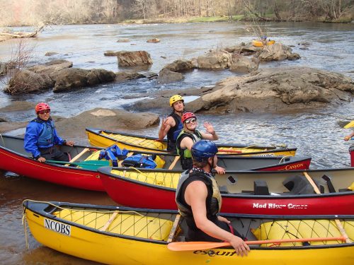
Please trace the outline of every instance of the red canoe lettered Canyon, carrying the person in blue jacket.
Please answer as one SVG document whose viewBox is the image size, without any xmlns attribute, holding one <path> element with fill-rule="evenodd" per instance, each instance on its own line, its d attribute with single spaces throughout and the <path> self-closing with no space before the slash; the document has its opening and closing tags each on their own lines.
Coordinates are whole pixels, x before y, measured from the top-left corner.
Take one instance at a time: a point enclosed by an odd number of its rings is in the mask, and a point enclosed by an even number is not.
<svg viewBox="0 0 354 265">
<path fill-rule="evenodd" d="M 78 189 L 89 189 L 103 192 L 103 185 L 99 179 L 97 168 L 101 162 L 97 160 L 97 151 L 103 148 L 93 148 L 92 146 L 59 146 L 62 151 L 67 152 L 72 157 L 73 167 L 58 165 L 53 163 L 39 163 L 33 160 L 30 153 L 23 148 L 23 139 L 14 136 L 1 136 L 0 138 L 0 170 L 15 172 L 18 175 L 40 179 L 46 182 L 61 184 L 67 187 Z M 130 153 L 138 153 L 131 151 Z M 95 154 L 93 154 L 95 153 Z M 147 155 L 156 153 L 144 152 Z M 90 159 L 85 161 L 86 159 Z M 176 155 L 165 154 L 156 155 L 155 160 L 159 160 L 159 167 L 168 169 L 176 162 Z M 219 159 L 219 165 L 228 170 L 292 170 L 308 168 L 311 162 L 309 157 L 235 157 L 224 155 Z M 64 163 L 65 164 L 65 163 Z M 174 163 L 176 170 L 181 169 L 181 163 Z"/>
</svg>

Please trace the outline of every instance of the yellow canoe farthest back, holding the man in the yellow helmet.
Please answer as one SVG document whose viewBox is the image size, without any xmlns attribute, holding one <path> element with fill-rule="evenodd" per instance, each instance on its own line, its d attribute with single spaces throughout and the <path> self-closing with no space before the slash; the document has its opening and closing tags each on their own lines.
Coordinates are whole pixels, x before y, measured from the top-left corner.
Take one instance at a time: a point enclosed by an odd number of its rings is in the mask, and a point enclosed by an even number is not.
<svg viewBox="0 0 354 265">
<path fill-rule="evenodd" d="M 166 153 L 167 142 L 157 141 L 154 137 L 127 134 L 120 131 L 108 131 L 103 129 L 86 128 L 89 142 L 93 146 L 108 147 L 116 144 L 120 148 L 135 151 L 152 151 Z M 222 144 L 217 145 L 218 155 L 295 155 L 296 148 L 287 146 L 260 146 L 260 145 L 236 145 Z"/>
</svg>

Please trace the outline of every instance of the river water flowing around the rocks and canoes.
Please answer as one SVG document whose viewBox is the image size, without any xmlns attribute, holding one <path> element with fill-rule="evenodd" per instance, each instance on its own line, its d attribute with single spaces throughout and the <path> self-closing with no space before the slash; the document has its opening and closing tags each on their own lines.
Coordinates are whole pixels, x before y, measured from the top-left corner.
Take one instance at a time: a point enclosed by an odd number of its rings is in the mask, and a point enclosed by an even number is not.
<svg viewBox="0 0 354 265">
<path fill-rule="evenodd" d="M 240 42 L 253 40 L 244 23 L 184 23 L 152 25 L 64 25 L 45 28 L 35 40 L 28 40 L 33 47 L 33 63 L 52 59 L 67 59 L 74 67 L 83 69 L 118 69 L 116 57 L 104 57 L 107 50 L 145 50 L 152 56 L 154 64 L 148 72 L 159 72 L 176 59 L 190 59 L 209 49 L 229 47 Z M 272 66 L 311 66 L 327 71 L 338 71 L 354 78 L 353 24 L 325 23 L 268 23 L 268 36 L 292 45 L 293 52 L 301 55 L 297 61 L 279 61 L 261 64 Z M 21 28 L 20 30 L 23 30 Z M 157 37 L 157 44 L 146 41 Z M 130 42 L 117 42 L 128 38 Z M 309 45 L 299 45 L 307 42 Z M 11 58 L 16 49 L 15 41 L 0 42 L 0 61 Z M 46 52 L 57 52 L 45 57 Z M 164 58 L 166 57 L 166 59 Z M 144 72 L 143 72 L 144 73 Z M 175 88 L 200 88 L 212 86 L 227 76 L 229 71 L 192 71 L 185 73 L 185 79 L 178 83 L 161 85 L 156 81 L 138 79 L 127 83 L 110 83 L 71 93 L 52 93 L 50 90 L 35 95 L 10 96 L 0 92 L 0 107 L 16 100 L 49 102 L 53 114 L 72 117 L 94 107 L 124 108 L 135 100 L 135 95 L 149 97 L 156 90 Z M 4 80 L 4 78 L 2 79 Z M 0 88 L 4 82 L 0 80 Z M 123 99 L 130 95 L 132 100 Z M 192 98 L 186 98 L 192 100 Z M 152 110 L 154 111 L 154 110 Z M 159 110 L 156 110 L 158 112 Z M 164 115 L 163 113 L 159 113 Z M 0 113 L 1 117 L 16 122 L 30 120 L 33 111 Z M 200 124 L 210 121 L 215 126 L 219 143 L 244 144 L 287 144 L 296 146 L 297 154 L 312 157 L 312 168 L 348 167 L 349 142 L 343 137 L 350 130 L 343 129 L 343 122 L 354 117 L 354 102 L 322 110 L 294 110 L 287 114 L 225 114 L 222 116 L 198 115 Z M 137 131 L 138 134 L 156 136 L 158 127 Z M 202 129 L 202 128 L 200 128 Z M 133 133 L 135 131 L 132 131 Z M 23 134 L 23 130 L 8 134 Z M 86 139 L 79 143 L 86 144 Z M 3 172 L 4 173 L 4 172 Z M 99 192 L 86 192 L 38 182 L 25 177 L 6 176 L 0 172 L 0 264 L 90 264 L 88 261 L 69 257 L 52 249 L 42 247 L 28 235 L 30 249 L 25 247 L 25 232 L 21 225 L 23 199 L 71 201 L 91 204 L 114 204 L 110 198 Z"/>
</svg>

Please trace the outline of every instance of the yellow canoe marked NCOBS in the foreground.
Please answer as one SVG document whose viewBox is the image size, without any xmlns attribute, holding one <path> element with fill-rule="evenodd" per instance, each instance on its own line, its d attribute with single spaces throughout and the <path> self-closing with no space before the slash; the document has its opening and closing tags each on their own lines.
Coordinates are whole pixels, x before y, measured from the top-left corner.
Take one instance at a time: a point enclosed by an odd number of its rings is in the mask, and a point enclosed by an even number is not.
<svg viewBox="0 0 354 265">
<path fill-rule="evenodd" d="M 281 261 L 287 265 L 333 265 L 354 260 L 353 242 L 339 240 L 338 222 L 329 218 L 273 220 L 229 215 L 232 225 L 248 240 L 291 241 L 272 245 L 253 242 L 249 255 L 238 257 L 230 247 L 169 250 L 171 242 L 185 244 L 185 220 L 176 211 L 30 200 L 23 201 L 23 207 L 30 232 L 42 245 L 103 264 L 274 265 Z M 353 218 L 340 221 L 350 240 L 354 239 Z M 314 241 L 318 237 L 325 239 Z M 295 242 L 299 238 L 305 238 L 307 244 Z"/>
</svg>

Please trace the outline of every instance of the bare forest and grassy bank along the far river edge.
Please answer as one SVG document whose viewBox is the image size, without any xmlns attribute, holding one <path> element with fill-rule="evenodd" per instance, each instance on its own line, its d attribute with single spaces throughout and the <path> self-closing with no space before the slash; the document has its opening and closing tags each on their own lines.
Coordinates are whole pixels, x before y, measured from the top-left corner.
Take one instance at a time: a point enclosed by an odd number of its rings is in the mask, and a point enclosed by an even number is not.
<svg viewBox="0 0 354 265">
<path fill-rule="evenodd" d="M 0 0 L 0 26 L 215 20 L 350 23 L 353 0 Z"/>
</svg>

